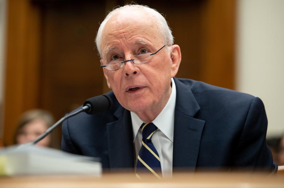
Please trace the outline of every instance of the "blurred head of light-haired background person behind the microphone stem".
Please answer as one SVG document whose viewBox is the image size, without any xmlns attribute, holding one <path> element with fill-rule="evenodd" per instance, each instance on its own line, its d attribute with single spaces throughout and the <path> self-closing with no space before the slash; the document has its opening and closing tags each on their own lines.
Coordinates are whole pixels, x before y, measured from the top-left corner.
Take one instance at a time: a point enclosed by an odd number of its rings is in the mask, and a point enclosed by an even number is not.
<svg viewBox="0 0 284 188">
<path fill-rule="evenodd" d="M 24 144 L 31 142 L 41 135 L 46 129 L 54 124 L 54 118 L 50 112 L 33 109 L 23 113 L 17 123 L 17 129 L 14 134 L 14 144 Z M 47 135 L 39 141 L 39 146 L 50 146 L 51 136 Z"/>
</svg>

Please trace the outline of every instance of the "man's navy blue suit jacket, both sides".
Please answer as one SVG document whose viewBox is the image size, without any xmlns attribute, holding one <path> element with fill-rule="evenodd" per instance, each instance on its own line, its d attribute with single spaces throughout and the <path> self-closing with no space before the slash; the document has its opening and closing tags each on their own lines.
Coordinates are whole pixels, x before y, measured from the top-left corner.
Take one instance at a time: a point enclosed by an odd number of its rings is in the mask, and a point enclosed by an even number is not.
<svg viewBox="0 0 284 188">
<path fill-rule="evenodd" d="M 266 144 L 267 117 L 259 98 L 204 82 L 174 80 L 173 170 L 277 169 Z M 130 111 L 112 92 L 107 95 L 114 102 L 110 111 L 81 113 L 63 122 L 62 150 L 100 157 L 103 168 L 111 171 L 133 168 Z"/>
</svg>

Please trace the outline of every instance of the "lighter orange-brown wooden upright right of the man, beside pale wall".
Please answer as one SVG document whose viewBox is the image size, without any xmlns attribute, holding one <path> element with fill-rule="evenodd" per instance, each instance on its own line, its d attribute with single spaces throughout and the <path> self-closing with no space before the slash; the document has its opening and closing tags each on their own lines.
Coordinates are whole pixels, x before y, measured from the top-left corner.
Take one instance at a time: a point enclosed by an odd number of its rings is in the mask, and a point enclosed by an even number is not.
<svg viewBox="0 0 284 188">
<path fill-rule="evenodd" d="M 206 1 L 201 15 L 201 80 L 234 89 L 235 1 Z"/>
</svg>

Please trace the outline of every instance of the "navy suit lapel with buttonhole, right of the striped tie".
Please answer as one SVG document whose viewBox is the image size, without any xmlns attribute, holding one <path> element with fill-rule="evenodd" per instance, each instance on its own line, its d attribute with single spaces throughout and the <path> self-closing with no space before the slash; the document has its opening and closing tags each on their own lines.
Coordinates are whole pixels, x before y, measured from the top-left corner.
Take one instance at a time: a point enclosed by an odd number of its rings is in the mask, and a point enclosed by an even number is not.
<svg viewBox="0 0 284 188">
<path fill-rule="evenodd" d="M 204 120 L 194 118 L 200 107 L 189 86 L 175 79 L 176 105 L 173 142 L 173 169 L 194 171 Z"/>
</svg>

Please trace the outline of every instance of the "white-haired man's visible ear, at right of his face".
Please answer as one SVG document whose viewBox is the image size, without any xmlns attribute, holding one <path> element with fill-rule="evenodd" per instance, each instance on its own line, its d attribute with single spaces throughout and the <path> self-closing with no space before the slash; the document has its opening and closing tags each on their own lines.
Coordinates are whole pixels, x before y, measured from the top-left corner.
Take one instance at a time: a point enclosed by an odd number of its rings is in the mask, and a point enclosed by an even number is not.
<svg viewBox="0 0 284 188">
<path fill-rule="evenodd" d="M 172 65 L 171 65 L 171 77 L 175 77 L 175 75 L 178 73 L 178 68 L 180 67 L 180 61 L 181 61 L 181 53 L 180 53 L 180 47 L 178 45 L 172 45 L 171 50 L 171 59 L 172 59 Z"/>
</svg>

